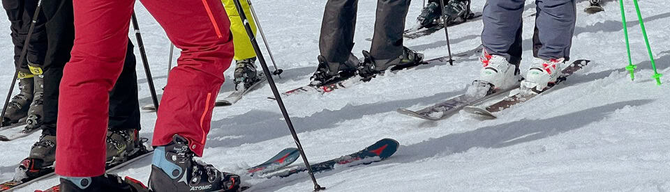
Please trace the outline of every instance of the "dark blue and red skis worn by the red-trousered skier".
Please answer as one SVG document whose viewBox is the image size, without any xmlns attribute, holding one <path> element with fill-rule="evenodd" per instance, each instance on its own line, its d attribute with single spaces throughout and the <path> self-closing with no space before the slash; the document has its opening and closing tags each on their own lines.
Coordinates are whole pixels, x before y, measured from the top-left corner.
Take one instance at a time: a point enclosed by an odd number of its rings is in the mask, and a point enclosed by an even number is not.
<svg viewBox="0 0 670 192">
<path fill-rule="evenodd" d="M 398 143 L 398 141 L 395 141 L 391 138 L 384 138 L 366 147 L 364 150 L 360 150 L 359 152 L 348 154 L 343 157 L 338 157 L 336 159 L 323 161 L 321 163 L 315 163 L 311 165 L 311 169 L 315 173 L 320 173 L 328 170 L 335 170 L 337 168 L 366 165 L 382 161 L 384 159 L 391 157 L 398 150 L 399 146 L 400 144 Z M 264 175 L 267 178 L 273 178 L 273 177 L 288 177 L 290 175 L 295 175 L 297 173 L 303 173 L 307 170 L 307 168 L 301 166 L 299 168 L 292 168 L 290 170 L 286 170 L 281 173 L 266 175 L 267 173 L 276 172 L 278 170 L 285 168 L 286 166 L 289 166 L 291 163 L 295 162 L 299 157 L 300 153 L 297 148 L 295 147 L 286 148 L 281 152 L 279 152 L 278 154 L 276 154 L 274 157 L 265 161 L 264 163 L 260 163 L 258 166 L 248 168 L 246 174 L 251 177 L 255 177 L 255 175 Z M 119 165 L 118 168 L 120 168 L 120 166 L 125 166 L 125 164 L 127 163 L 131 162 L 128 161 L 124 164 L 121 164 Z M 109 173 L 110 171 L 111 170 L 107 170 L 107 173 Z M 126 177 L 126 179 L 131 179 L 134 182 L 137 182 L 137 180 L 132 179 L 130 177 Z M 144 186 L 141 183 L 140 185 L 136 186 L 142 186 L 142 188 L 144 188 L 145 191 L 149 191 L 149 189 L 147 189 L 146 186 Z M 238 191 L 244 191 L 248 188 L 249 186 L 241 186 Z M 58 186 L 53 186 L 52 188 L 47 189 L 44 192 L 47 191 L 58 192 L 59 189 Z"/>
</svg>

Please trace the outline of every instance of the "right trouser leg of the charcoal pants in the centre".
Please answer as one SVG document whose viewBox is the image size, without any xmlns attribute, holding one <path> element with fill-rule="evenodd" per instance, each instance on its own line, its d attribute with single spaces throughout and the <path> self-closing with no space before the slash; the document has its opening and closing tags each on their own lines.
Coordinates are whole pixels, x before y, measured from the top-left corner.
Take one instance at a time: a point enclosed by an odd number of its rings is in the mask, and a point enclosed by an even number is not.
<svg viewBox="0 0 670 192">
<path fill-rule="evenodd" d="M 377 1 L 375 33 L 370 47 L 373 58 L 383 60 L 403 54 L 403 31 L 409 6 L 409 0 Z"/>
</svg>

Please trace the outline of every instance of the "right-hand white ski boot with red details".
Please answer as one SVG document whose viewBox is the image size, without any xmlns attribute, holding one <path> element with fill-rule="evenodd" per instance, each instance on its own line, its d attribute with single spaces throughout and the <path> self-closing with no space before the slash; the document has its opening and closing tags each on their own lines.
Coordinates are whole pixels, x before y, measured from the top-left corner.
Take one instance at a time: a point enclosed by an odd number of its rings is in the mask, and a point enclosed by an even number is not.
<svg viewBox="0 0 670 192">
<path fill-rule="evenodd" d="M 549 83 L 556 83 L 563 69 L 565 58 L 552 58 L 543 60 L 534 58 L 530 65 L 526 80 L 521 81 L 521 91 L 526 94 L 542 93 Z"/>
</svg>

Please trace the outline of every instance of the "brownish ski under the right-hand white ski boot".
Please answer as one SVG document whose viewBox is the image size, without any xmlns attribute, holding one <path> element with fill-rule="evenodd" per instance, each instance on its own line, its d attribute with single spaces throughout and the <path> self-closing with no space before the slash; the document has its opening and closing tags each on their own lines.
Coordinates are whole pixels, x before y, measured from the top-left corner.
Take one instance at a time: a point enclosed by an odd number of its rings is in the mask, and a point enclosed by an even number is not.
<svg viewBox="0 0 670 192">
<path fill-rule="evenodd" d="M 505 110 L 505 109 L 509 109 L 509 107 L 511 107 L 511 106 L 514 106 L 516 104 L 521 104 L 523 102 L 528 101 L 528 99 L 531 99 L 531 98 L 533 98 L 537 95 L 541 95 L 542 93 L 546 93 L 547 90 L 549 90 L 549 89 L 553 88 L 554 86 L 558 85 L 558 83 L 565 81 L 567 79 L 566 77 L 569 77 L 570 75 L 574 74 L 574 72 L 576 72 L 578 70 L 581 70 L 583 67 L 588 65 L 589 62 L 590 61 L 583 60 L 583 59 L 574 61 L 571 65 L 568 65 L 563 70 L 561 70 L 561 72 L 563 74 L 561 74 L 561 76 L 558 77 L 558 79 L 556 80 L 555 83 L 549 83 L 549 85 L 547 85 L 547 87 L 544 88 L 544 90 L 542 90 L 542 92 L 540 92 L 540 93 L 530 93 L 530 94 L 528 94 L 528 93 L 516 93 L 512 96 L 509 96 L 509 97 L 506 97 L 505 99 L 502 99 L 502 101 L 500 101 L 500 102 L 496 102 L 495 104 L 491 104 L 491 105 L 483 107 L 483 108 L 478 107 L 478 106 L 466 106 L 463 110 L 468 112 L 468 113 L 472 113 L 474 115 L 479 115 L 482 118 L 489 118 L 489 119 L 497 118 L 497 116 L 494 113 Z"/>
</svg>

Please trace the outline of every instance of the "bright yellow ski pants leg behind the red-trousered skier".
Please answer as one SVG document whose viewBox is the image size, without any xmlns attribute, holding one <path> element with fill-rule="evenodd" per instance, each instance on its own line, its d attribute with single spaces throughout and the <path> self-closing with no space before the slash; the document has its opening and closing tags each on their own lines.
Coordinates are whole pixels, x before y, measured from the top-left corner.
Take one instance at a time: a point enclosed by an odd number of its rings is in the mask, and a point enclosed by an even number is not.
<svg viewBox="0 0 670 192">
<path fill-rule="evenodd" d="M 235 56 L 236 61 L 252 58 L 256 56 L 256 52 L 253 50 L 251 45 L 251 40 L 249 40 L 249 35 L 246 34 L 246 29 L 244 29 L 244 24 L 242 20 L 239 19 L 239 13 L 237 13 L 237 8 L 232 0 L 221 0 L 223 1 L 223 6 L 225 8 L 225 13 L 228 13 L 228 19 L 230 19 L 230 32 L 232 32 L 232 42 L 235 45 Z M 244 14 L 246 19 L 249 21 L 251 26 L 251 31 L 254 35 L 256 33 L 256 24 L 251 17 L 251 9 L 249 8 L 249 3 L 246 0 L 240 0 L 239 3 L 244 9 Z"/>
</svg>

